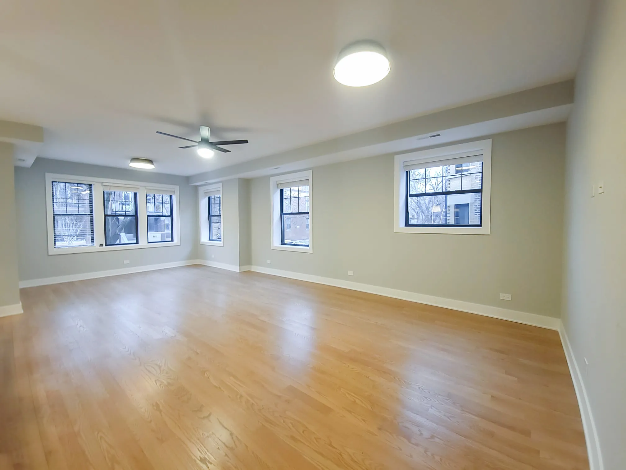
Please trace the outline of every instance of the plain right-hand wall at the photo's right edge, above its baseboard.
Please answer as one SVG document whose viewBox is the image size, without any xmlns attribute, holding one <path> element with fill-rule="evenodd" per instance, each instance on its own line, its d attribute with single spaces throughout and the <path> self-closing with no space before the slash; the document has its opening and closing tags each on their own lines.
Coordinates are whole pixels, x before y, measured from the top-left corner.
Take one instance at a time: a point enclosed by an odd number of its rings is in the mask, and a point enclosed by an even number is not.
<svg viewBox="0 0 626 470">
<path fill-rule="evenodd" d="M 626 1 L 594 6 L 567 132 L 562 319 L 613 470 L 626 468 Z"/>
</svg>

